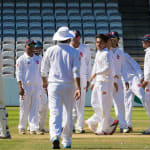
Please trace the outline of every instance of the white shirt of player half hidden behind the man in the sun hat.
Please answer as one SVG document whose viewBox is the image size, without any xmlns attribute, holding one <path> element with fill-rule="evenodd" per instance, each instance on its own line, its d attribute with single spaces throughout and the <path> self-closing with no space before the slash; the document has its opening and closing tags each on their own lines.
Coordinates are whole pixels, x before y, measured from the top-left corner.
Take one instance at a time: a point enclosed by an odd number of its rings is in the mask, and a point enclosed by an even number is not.
<svg viewBox="0 0 150 150">
<path fill-rule="evenodd" d="M 91 54 L 90 49 L 85 44 L 80 44 L 76 48 L 80 52 L 81 64 L 80 64 L 80 78 L 86 78 L 90 80 L 91 75 Z"/>
</svg>

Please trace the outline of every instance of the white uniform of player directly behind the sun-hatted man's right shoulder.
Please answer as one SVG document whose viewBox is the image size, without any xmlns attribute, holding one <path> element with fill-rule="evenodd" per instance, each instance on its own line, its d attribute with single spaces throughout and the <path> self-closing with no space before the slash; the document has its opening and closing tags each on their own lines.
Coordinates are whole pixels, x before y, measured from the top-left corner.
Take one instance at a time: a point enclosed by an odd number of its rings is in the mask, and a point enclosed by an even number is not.
<svg viewBox="0 0 150 150">
<path fill-rule="evenodd" d="M 80 52 L 81 65 L 80 65 L 80 86 L 81 97 L 75 101 L 73 108 L 73 120 L 76 120 L 76 129 L 82 130 L 84 127 L 84 105 L 86 96 L 87 81 L 90 80 L 91 74 L 91 55 L 90 49 L 85 44 L 80 44 L 77 48 Z"/>
</svg>

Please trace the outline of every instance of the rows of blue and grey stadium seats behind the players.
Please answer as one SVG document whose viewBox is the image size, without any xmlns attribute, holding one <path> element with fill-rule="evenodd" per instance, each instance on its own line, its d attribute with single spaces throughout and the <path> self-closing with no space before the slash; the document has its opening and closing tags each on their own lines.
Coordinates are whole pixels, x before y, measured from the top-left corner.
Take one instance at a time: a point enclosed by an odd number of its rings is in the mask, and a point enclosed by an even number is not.
<svg viewBox="0 0 150 150">
<path fill-rule="evenodd" d="M 60 26 L 81 32 L 81 41 L 90 47 L 92 62 L 96 34 L 117 30 L 123 36 L 117 0 L 3 0 L 0 5 L 5 76 L 15 77 L 16 59 L 23 54 L 26 39 L 42 41 L 45 51 L 54 44 L 52 36 Z"/>
</svg>

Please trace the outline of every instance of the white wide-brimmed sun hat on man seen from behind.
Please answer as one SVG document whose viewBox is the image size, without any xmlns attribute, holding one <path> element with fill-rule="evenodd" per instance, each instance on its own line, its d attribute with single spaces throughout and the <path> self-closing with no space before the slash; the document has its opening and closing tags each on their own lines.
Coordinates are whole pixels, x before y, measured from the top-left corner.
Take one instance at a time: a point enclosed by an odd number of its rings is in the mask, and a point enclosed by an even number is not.
<svg viewBox="0 0 150 150">
<path fill-rule="evenodd" d="M 75 37 L 75 34 L 68 27 L 60 27 L 53 36 L 53 41 L 65 41 Z"/>
</svg>

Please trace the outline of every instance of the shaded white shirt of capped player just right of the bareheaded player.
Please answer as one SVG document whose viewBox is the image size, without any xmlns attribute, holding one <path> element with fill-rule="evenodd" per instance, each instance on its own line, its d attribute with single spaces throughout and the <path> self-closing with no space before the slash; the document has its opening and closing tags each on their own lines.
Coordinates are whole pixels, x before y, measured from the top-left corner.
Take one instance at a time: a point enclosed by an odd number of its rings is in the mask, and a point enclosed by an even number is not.
<svg viewBox="0 0 150 150">
<path fill-rule="evenodd" d="M 128 81 L 127 78 L 127 68 L 125 66 L 125 58 L 124 58 L 124 52 L 119 49 L 118 47 L 116 49 L 111 49 L 113 58 L 115 61 L 115 73 L 118 75 L 120 78 L 123 76 L 123 79 L 125 82 Z"/>
</svg>

